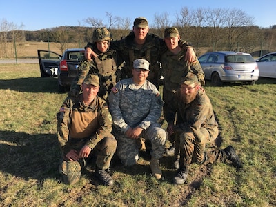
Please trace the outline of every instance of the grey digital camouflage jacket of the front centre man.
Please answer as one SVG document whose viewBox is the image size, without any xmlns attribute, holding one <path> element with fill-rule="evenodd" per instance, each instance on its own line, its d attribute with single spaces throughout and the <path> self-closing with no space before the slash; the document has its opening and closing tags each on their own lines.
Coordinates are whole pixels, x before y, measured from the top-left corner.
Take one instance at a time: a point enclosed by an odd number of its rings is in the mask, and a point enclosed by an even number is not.
<svg viewBox="0 0 276 207">
<path fill-rule="evenodd" d="M 149 81 L 137 89 L 132 78 L 121 80 L 112 88 L 108 100 L 113 124 L 122 132 L 136 126 L 146 130 L 161 116 L 161 96 Z"/>
</svg>

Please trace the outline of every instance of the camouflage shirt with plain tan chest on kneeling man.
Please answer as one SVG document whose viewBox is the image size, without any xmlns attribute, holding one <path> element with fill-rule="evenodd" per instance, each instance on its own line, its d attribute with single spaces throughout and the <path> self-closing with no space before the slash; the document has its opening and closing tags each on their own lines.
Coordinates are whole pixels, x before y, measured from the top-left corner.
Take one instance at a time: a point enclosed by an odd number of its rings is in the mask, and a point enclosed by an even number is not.
<svg viewBox="0 0 276 207">
<path fill-rule="evenodd" d="M 93 149 L 111 130 L 112 118 L 100 97 L 89 106 L 83 104 L 82 94 L 75 101 L 67 97 L 57 113 L 57 137 L 63 152 L 70 150 L 66 145 L 69 139 L 89 138 L 86 145 Z"/>
</svg>

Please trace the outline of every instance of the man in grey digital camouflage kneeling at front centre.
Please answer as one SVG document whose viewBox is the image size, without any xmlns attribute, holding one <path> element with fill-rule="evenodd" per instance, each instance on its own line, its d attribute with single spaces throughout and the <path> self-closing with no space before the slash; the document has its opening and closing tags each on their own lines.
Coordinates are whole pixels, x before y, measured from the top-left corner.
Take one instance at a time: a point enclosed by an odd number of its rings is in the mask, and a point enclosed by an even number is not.
<svg viewBox="0 0 276 207">
<path fill-rule="evenodd" d="M 117 155 L 124 166 L 133 166 L 139 159 L 136 140 L 144 137 L 152 144 L 150 168 L 157 179 L 162 177 L 159 159 L 163 157 L 166 132 L 158 123 L 162 100 L 157 88 L 146 80 L 149 62 L 133 61 L 132 78 L 119 81 L 110 92 L 110 113 L 114 135 L 118 141 Z"/>
</svg>

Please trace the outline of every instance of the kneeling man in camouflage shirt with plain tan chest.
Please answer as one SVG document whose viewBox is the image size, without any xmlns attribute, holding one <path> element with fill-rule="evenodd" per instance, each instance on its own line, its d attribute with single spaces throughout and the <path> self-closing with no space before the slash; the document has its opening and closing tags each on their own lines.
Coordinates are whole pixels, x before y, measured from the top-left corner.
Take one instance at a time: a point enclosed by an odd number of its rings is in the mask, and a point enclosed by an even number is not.
<svg viewBox="0 0 276 207">
<path fill-rule="evenodd" d="M 89 74 L 81 86 L 79 97 L 68 97 L 57 113 L 57 137 L 62 151 L 59 172 L 66 184 L 75 184 L 93 150 L 97 154 L 95 175 L 110 186 L 114 181 L 106 170 L 117 146 L 111 134 L 112 118 L 106 101 L 97 96 L 99 77 Z"/>
</svg>

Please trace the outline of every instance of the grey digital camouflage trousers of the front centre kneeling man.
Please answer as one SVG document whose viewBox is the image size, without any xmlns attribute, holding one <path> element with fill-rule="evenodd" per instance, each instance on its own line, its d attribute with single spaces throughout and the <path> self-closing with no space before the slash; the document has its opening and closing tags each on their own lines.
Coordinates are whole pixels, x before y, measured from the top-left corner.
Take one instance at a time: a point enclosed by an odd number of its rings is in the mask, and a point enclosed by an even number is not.
<svg viewBox="0 0 276 207">
<path fill-rule="evenodd" d="M 118 132 L 117 130 L 115 130 L 114 135 L 118 141 L 116 153 L 119 159 L 121 159 L 121 162 L 125 166 L 134 166 L 139 158 L 140 147 L 137 144 L 137 139 L 130 139 L 124 133 Z M 155 159 L 163 157 L 167 133 L 161 128 L 160 124 L 152 124 L 149 128 L 141 132 L 140 137 L 151 142 L 151 157 Z"/>
</svg>

